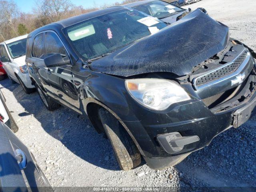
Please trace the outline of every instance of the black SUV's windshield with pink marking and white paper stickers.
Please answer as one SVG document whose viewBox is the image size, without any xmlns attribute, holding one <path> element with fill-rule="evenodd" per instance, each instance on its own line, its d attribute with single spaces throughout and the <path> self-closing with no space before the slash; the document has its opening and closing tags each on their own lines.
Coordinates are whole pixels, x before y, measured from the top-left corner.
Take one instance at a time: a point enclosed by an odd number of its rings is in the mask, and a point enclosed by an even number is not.
<svg viewBox="0 0 256 192">
<path fill-rule="evenodd" d="M 121 10 L 64 29 L 83 60 L 104 56 L 164 28 L 167 24 L 136 10 Z"/>
</svg>

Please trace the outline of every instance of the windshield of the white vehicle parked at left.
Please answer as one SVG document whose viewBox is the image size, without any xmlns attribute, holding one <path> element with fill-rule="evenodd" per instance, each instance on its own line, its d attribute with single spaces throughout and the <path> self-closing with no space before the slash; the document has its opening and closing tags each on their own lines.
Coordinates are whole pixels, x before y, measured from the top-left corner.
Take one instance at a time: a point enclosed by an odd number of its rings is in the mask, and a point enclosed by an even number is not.
<svg viewBox="0 0 256 192">
<path fill-rule="evenodd" d="M 12 58 L 18 58 L 26 55 L 26 42 L 27 39 L 21 39 L 7 44 L 8 50 Z"/>
</svg>

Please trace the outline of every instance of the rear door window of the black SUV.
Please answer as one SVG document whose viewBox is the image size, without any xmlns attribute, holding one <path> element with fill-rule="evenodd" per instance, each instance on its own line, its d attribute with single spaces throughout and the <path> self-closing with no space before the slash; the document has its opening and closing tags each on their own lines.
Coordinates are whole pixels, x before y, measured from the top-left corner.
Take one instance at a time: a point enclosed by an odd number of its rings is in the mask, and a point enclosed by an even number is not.
<svg viewBox="0 0 256 192">
<path fill-rule="evenodd" d="M 32 46 L 32 56 L 40 59 L 45 58 L 44 54 L 44 34 L 37 35 Z"/>
</svg>

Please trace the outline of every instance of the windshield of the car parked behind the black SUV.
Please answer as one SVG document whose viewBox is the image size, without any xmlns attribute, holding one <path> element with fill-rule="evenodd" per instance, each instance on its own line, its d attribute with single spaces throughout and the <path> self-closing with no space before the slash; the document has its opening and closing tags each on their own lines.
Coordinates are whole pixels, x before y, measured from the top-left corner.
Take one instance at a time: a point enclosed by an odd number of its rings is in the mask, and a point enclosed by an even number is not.
<svg viewBox="0 0 256 192">
<path fill-rule="evenodd" d="M 184 11 L 182 8 L 178 8 L 174 5 L 162 1 L 152 1 L 146 4 L 135 6 L 133 9 L 144 12 L 158 19 L 171 16 L 176 12 Z"/>
</svg>

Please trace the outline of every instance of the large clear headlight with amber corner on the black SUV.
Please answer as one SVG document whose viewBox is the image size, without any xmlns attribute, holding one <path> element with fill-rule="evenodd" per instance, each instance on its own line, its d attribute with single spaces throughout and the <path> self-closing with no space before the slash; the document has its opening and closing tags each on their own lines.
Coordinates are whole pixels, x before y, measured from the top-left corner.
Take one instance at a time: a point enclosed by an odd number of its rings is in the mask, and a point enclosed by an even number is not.
<svg viewBox="0 0 256 192">
<path fill-rule="evenodd" d="M 125 84 L 136 101 L 154 110 L 165 110 L 173 103 L 190 100 L 187 92 L 170 80 L 131 79 Z"/>
</svg>

